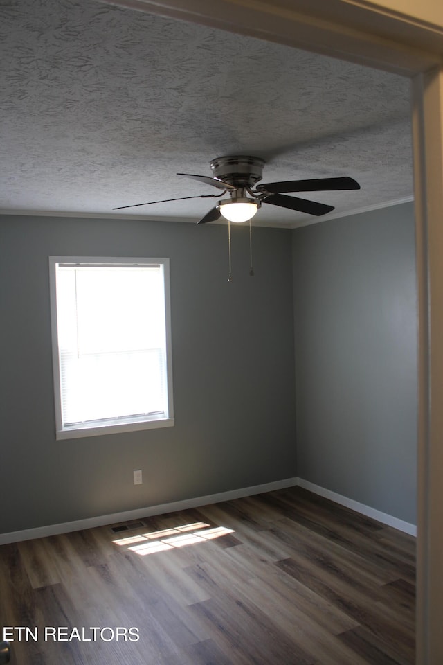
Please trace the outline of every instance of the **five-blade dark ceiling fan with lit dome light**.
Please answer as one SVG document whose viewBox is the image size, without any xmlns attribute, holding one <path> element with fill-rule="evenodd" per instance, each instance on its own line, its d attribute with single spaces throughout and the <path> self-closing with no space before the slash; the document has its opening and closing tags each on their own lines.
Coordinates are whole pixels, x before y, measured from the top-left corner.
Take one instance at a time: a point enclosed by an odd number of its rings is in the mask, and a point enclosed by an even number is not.
<svg viewBox="0 0 443 665">
<path fill-rule="evenodd" d="M 212 185 L 219 190 L 217 194 L 201 194 L 197 196 L 182 196 L 177 199 L 163 199 L 161 201 L 148 201 L 132 206 L 118 206 L 113 210 L 147 206 L 154 203 L 168 201 L 181 201 L 183 199 L 197 199 L 220 197 L 228 193 L 230 198 L 219 201 L 197 224 L 216 222 L 223 215 L 230 222 L 247 222 L 251 220 L 262 203 L 271 204 L 280 208 L 307 213 L 308 215 L 325 215 L 334 210 L 334 206 L 300 199 L 300 197 L 285 196 L 285 193 L 295 192 L 325 192 L 360 189 L 360 185 L 353 178 L 314 178 L 309 180 L 289 180 L 284 182 L 268 182 L 258 184 L 262 179 L 264 159 L 246 155 L 233 155 L 217 157 L 210 161 L 210 168 L 214 177 L 206 175 L 192 175 L 190 173 L 177 173 L 193 180 Z M 255 187 L 255 189 L 254 189 Z"/>
</svg>

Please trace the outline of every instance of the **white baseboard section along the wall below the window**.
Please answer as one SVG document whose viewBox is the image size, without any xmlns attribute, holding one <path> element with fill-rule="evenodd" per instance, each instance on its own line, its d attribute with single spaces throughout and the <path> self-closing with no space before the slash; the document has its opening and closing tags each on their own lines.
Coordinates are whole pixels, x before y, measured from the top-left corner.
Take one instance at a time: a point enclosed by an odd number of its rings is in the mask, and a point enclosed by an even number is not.
<svg viewBox="0 0 443 665">
<path fill-rule="evenodd" d="M 9 542 L 20 542 L 21 540 L 33 540 L 34 538 L 45 538 L 48 535 L 57 535 L 57 533 L 69 533 L 70 531 L 79 531 L 80 529 L 93 529 L 94 526 L 105 526 L 106 524 L 115 524 L 116 522 L 127 522 L 129 520 L 141 520 L 150 515 L 163 515 L 164 513 L 174 513 L 175 511 L 186 511 L 188 508 L 198 508 L 208 504 L 217 504 L 221 501 L 231 501 L 232 499 L 241 499 L 242 497 L 251 497 L 254 494 L 272 492 L 273 490 L 282 490 L 287 487 L 293 487 L 297 484 L 296 478 L 287 478 L 264 485 L 253 485 L 229 492 L 220 492 L 218 494 L 209 494 L 205 497 L 195 497 L 193 499 L 184 499 L 183 501 L 173 501 L 168 504 L 159 504 L 147 508 L 136 508 L 134 511 L 124 511 L 123 513 L 112 513 L 111 515 L 99 515 L 98 517 L 88 517 L 85 520 L 75 520 L 74 522 L 64 522 L 64 524 L 49 524 L 48 526 L 37 526 L 35 529 L 24 529 L 24 531 L 11 531 L 10 533 L 0 533 L 0 545 Z"/>
</svg>

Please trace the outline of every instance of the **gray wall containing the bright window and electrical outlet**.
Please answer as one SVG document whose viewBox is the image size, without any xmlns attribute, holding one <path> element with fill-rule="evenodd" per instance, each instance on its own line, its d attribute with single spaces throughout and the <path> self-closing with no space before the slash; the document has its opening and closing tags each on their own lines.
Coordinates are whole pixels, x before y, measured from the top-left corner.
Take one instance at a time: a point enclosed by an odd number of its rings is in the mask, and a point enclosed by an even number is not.
<svg viewBox="0 0 443 665">
<path fill-rule="evenodd" d="M 291 231 L 0 218 L 0 532 L 296 475 Z M 170 257 L 175 427 L 55 441 L 48 256 Z M 134 486 L 132 471 L 143 470 Z"/>
</svg>

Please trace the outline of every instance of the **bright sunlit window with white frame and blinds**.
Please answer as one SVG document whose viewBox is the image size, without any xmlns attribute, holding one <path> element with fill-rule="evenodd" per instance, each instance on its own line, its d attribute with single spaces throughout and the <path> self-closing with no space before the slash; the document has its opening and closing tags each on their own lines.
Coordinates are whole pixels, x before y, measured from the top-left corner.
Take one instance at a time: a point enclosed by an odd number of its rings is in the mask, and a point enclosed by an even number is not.
<svg viewBox="0 0 443 665">
<path fill-rule="evenodd" d="M 49 269 L 57 439 L 174 425 L 168 259 Z"/>
</svg>

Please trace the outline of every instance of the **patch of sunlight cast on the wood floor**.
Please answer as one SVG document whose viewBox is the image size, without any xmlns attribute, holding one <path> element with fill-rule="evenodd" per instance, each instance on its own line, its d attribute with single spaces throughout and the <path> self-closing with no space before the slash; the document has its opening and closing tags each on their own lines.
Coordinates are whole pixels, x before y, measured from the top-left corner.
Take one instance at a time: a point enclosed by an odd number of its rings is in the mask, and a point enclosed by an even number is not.
<svg viewBox="0 0 443 665">
<path fill-rule="evenodd" d="M 228 533 L 233 533 L 233 529 L 226 529 L 226 526 L 210 526 L 205 522 L 194 522 L 176 526 L 172 529 L 129 535 L 127 538 L 118 538 L 113 542 L 120 545 L 120 547 L 126 546 L 130 551 L 145 556 L 168 549 L 185 547 L 197 542 L 207 542 Z"/>
</svg>

